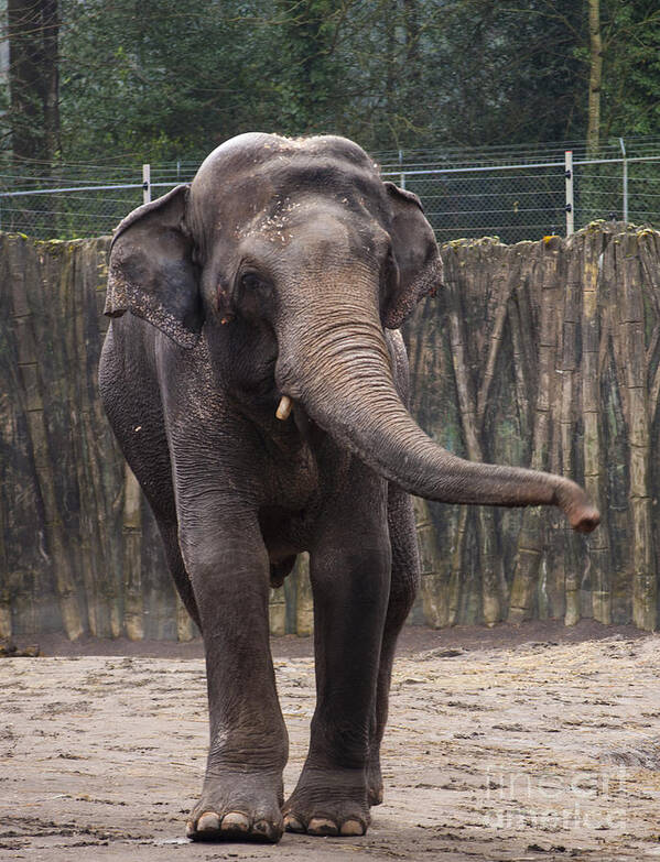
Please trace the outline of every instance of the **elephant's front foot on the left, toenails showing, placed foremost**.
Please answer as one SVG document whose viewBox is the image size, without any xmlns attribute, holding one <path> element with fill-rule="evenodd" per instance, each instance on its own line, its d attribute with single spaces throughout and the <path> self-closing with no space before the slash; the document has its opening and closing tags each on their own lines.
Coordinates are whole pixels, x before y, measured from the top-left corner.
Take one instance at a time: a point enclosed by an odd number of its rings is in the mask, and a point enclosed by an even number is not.
<svg viewBox="0 0 660 862">
<path fill-rule="evenodd" d="M 282 779 L 272 773 L 207 777 L 186 823 L 186 836 L 193 841 L 274 844 L 284 831 L 282 793 Z"/>
</svg>

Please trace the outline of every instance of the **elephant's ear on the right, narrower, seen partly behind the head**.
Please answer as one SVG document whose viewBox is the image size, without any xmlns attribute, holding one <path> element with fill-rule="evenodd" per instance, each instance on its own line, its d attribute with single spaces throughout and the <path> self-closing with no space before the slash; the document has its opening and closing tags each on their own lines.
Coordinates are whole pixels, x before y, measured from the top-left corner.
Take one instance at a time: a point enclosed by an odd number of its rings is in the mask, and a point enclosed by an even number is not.
<svg viewBox="0 0 660 862">
<path fill-rule="evenodd" d="M 399 277 L 389 280 L 382 320 L 388 329 L 398 329 L 420 299 L 441 285 L 442 261 L 419 197 L 393 183 L 386 182 L 385 187 L 392 208 L 390 237 Z"/>
</svg>

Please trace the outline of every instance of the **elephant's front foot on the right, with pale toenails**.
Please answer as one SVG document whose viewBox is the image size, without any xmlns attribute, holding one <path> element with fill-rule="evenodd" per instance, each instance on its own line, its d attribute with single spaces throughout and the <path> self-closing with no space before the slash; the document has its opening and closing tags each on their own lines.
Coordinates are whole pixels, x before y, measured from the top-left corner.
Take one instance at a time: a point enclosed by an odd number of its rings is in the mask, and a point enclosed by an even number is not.
<svg viewBox="0 0 660 862">
<path fill-rule="evenodd" d="M 370 820 L 364 771 L 305 767 L 283 815 L 288 832 L 364 836 Z"/>
</svg>

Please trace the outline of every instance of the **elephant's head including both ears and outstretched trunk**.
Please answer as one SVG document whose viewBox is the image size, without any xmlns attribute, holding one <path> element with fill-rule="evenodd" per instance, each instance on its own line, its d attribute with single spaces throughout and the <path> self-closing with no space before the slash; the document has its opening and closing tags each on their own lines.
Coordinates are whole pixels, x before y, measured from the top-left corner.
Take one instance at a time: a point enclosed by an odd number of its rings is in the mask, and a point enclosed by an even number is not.
<svg viewBox="0 0 660 862">
<path fill-rule="evenodd" d="M 383 183 L 336 137 L 246 134 L 215 150 L 192 185 L 119 226 L 106 313 L 149 320 L 182 349 L 204 328 L 212 358 L 288 415 L 293 402 L 380 474 L 452 503 L 556 504 L 598 523 L 574 482 L 465 461 L 415 424 L 394 384 L 385 329 L 440 285 L 418 197 Z"/>
</svg>

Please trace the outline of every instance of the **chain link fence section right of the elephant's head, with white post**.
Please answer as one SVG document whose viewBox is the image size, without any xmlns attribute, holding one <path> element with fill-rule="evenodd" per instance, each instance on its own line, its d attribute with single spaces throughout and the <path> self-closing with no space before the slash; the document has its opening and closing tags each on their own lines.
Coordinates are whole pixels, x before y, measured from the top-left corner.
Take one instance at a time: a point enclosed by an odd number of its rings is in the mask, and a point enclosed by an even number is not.
<svg viewBox="0 0 660 862">
<path fill-rule="evenodd" d="M 596 219 L 660 225 L 660 139 L 619 139 L 588 154 L 583 145 L 487 149 L 442 160 L 400 153 L 381 165 L 420 196 L 440 242 L 537 240 Z"/>
</svg>

